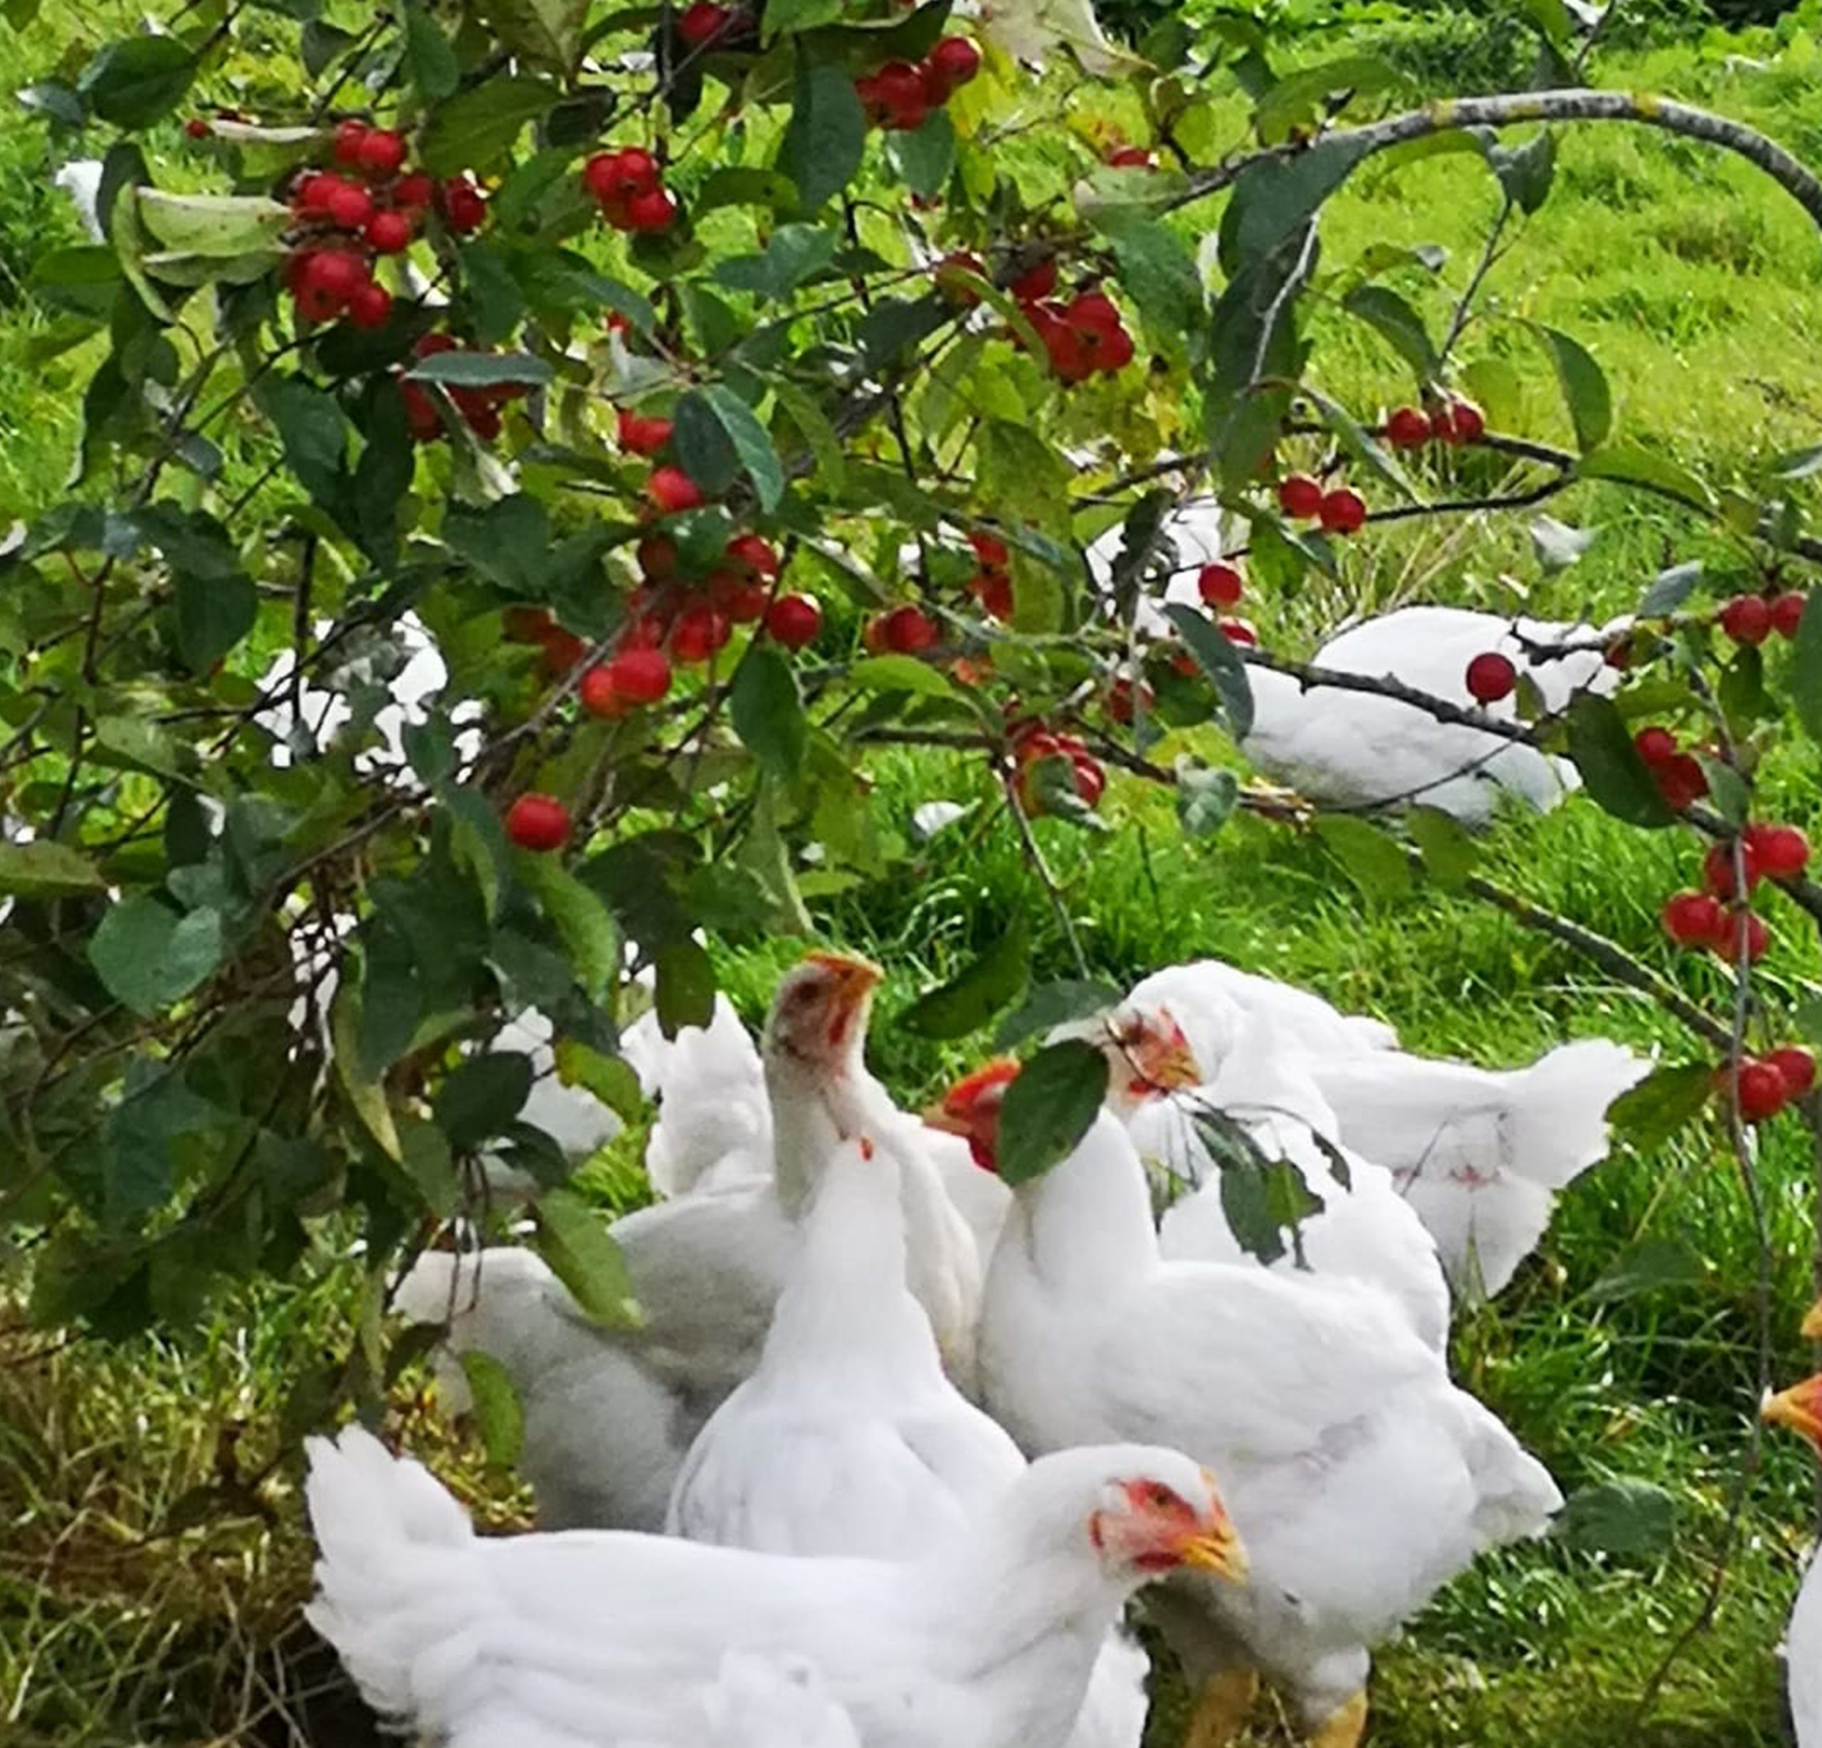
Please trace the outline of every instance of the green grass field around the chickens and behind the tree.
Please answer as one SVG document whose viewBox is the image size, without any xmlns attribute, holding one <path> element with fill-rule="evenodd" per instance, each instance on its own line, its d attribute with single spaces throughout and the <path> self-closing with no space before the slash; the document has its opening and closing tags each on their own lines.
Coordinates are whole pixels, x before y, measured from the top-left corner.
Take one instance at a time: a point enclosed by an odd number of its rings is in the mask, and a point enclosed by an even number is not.
<svg viewBox="0 0 1822 1748">
<path fill-rule="evenodd" d="M 73 16 L 16 38 L 0 24 L 0 60 L 36 67 Z M 93 29 L 97 13 L 86 15 Z M 1707 104 L 1822 164 L 1822 86 L 1800 53 L 1769 67 L 1731 66 L 1689 49 L 1623 53 L 1600 78 Z M 0 509 L 51 501 L 75 432 L 82 354 L 47 355 L 53 321 L 24 292 L 42 248 L 73 241 L 75 222 L 49 188 L 42 131 L 0 133 Z M 1370 242 L 1447 248 L 1443 288 L 1407 290 L 1447 303 L 1498 210 L 1485 168 L 1438 157 L 1372 168 L 1336 201 L 1326 261 Z M 1778 190 L 1745 166 L 1631 128 L 1563 139 L 1552 201 L 1492 272 L 1501 317 L 1576 334 L 1609 372 L 1622 430 L 1709 472 L 1738 478 L 1764 456 L 1817 441 L 1822 427 L 1822 239 Z M 1326 308 L 1319 323 L 1325 386 L 1372 403 L 1397 392 L 1396 359 Z M 1507 357 L 1521 374 L 1521 425 L 1567 437 L 1549 365 L 1510 321 L 1470 330 L 1469 357 Z M 1268 642 L 1306 649 L 1348 611 L 1397 600 L 1605 616 L 1636 602 L 1663 563 L 1709 550 L 1669 512 L 1581 488 L 1552 514 L 1600 529 L 1589 556 L 1540 574 L 1521 521 L 1461 518 L 1350 556 L 1339 587 L 1270 602 Z M 1773 795 L 1800 824 L 1818 824 L 1813 767 L 1793 758 Z M 922 758 L 878 769 L 875 806 L 907 833 L 933 797 L 986 798 L 980 773 Z M 1687 1041 L 1633 992 L 1603 982 L 1501 915 L 1423 891 L 1363 906 L 1314 846 L 1235 822 L 1186 846 L 1168 804 L 1115 780 L 1110 838 L 1046 828 L 1086 951 L 1099 972 L 1133 979 L 1197 953 L 1306 982 L 1397 1024 L 1405 1043 L 1503 1064 L 1567 1037 L 1612 1035 L 1687 1054 Z M 1507 884 L 1600 928 L 1671 970 L 1656 930 L 1662 895 L 1685 884 L 1694 849 L 1629 831 L 1591 806 L 1541 824 L 1500 828 L 1489 869 Z M 949 975 L 1022 911 L 1042 972 L 1068 972 L 1053 919 L 1031 889 L 1006 824 L 982 809 L 944 833 L 916 875 L 829 908 L 829 939 L 891 970 L 875 1066 L 911 1099 L 960 1064 L 906 1039 L 893 1015 Z M 1795 911 L 1773 915 L 1773 986 L 1822 977 L 1822 957 Z M 723 975 L 756 1015 L 802 942 L 774 941 L 723 959 Z M 1693 993 L 1720 997 L 1707 968 L 1676 966 Z M 627 1152 L 623 1148 L 621 1152 Z M 1780 1365 L 1802 1363 L 1787 1340 L 1807 1303 L 1815 1168 L 1795 1125 L 1766 1145 Z M 596 1172 L 598 1179 L 603 1174 Z M 623 1176 L 623 1174 L 619 1174 Z M 1694 1243 L 1698 1280 L 1612 1300 L 1598 1287 L 1645 1236 Z M 1766 1451 L 1747 1487 L 1720 1608 L 1678 1661 L 1649 1715 L 1640 1693 L 1713 1577 L 1755 1405 L 1758 1243 L 1725 1157 L 1704 1143 L 1651 1157 L 1620 1156 L 1565 1199 L 1545 1254 L 1498 1307 L 1472 1316 L 1456 1345 L 1458 1374 L 1509 1418 L 1563 1489 L 1633 1478 L 1674 1500 L 1667 1551 L 1616 1560 L 1545 1544 L 1489 1560 L 1385 1651 L 1377 1679 L 1379 1748 L 1747 1748 L 1784 1741 L 1776 1642 L 1809 1540 L 1813 1475 L 1786 1444 Z M 0 1744 L 295 1743 L 308 1719 L 319 1743 L 355 1743 L 341 1688 L 308 1648 L 297 1602 L 308 1588 L 288 1471 L 257 1498 L 220 1491 L 288 1447 L 293 1389 L 348 1340 L 359 1263 L 335 1234 L 292 1294 L 264 1290 L 222 1307 L 180 1343 L 106 1351 L 0 1327 Z M 288 1405 L 290 1404 L 290 1405 Z M 490 1515 L 523 1500 L 490 1484 L 434 1416 L 414 1434 L 446 1449 L 454 1473 Z M 200 1491 L 200 1489 L 215 1491 Z M 1170 1695 L 1159 1737 L 1173 1728 Z"/>
</svg>

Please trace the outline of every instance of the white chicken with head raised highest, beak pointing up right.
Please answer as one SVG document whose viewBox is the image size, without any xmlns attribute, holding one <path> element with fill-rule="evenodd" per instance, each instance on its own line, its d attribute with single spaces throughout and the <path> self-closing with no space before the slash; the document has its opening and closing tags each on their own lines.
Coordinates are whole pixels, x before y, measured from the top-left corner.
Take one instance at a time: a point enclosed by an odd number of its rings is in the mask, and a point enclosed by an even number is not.
<svg viewBox="0 0 1822 1748">
<path fill-rule="evenodd" d="M 426 1252 L 403 1281 L 395 1303 L 406 1316 L 446 1321 L 454 1351 L 481 1349 L 512 1376 L 525 1409 L 521 1467 L 545 1524 L 663 1524 L 691 1442 L 758 1362 L 816 1170 L 836 1139 L 862 1132 L 851 1083 L 865 1072 L 878 977 L 865 961 L 813 953 L 780 984 L 763 1046 L 773 1176 L 614 1223 L 641 1329 L 599 1327 L 519 1249 Z M 907 1280 L 946 1363 L 971 1380 L 975 1243 L 933 1167 L 900 1163 Z"/>
</svg>

